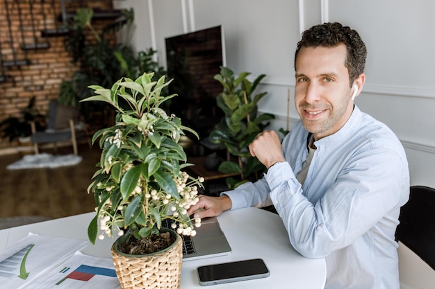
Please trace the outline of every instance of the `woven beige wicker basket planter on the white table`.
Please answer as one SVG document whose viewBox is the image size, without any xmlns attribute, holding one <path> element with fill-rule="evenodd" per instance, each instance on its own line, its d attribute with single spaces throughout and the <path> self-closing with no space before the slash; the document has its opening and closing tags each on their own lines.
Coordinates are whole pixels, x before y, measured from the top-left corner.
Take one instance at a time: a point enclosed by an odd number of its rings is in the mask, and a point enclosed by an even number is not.
<svg viewBox="0 0 435 289">
<path fill-rule="evenodd" d="M 172 230 L 177 239 L 161 252 L 145 255 L 129 255 L 119 252 L 113 243 L 111 252 L 117 278 L 122 289 L 174 289 L 180 287 L 181 263 L 183 261 L 181 237 Z"/>
</svg>

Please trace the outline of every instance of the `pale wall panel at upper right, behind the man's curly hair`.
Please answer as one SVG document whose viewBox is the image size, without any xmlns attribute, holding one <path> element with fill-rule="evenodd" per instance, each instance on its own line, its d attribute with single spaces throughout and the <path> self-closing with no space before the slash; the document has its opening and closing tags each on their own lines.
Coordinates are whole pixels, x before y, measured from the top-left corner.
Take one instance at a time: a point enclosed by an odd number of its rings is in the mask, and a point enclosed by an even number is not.
<svg viewBox="0 0 435 289">
<path fill-rule="evenodd" d="M 359 31 L 368 83 L 435 88 L 435 1 L 329 0 L 329 21 Z"/>
</svg>

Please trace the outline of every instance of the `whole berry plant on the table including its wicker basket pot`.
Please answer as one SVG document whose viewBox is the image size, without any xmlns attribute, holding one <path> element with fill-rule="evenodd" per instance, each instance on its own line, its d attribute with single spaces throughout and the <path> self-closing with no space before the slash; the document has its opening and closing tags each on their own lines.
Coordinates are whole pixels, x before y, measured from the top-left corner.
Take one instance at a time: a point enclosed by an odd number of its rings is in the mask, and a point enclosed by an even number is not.
<svg viewBox="0 0 435 289">
<path fill-rule="evenodd" d="M 104 101 L 117 112 L 115 125 L 92 138 L 99 139 L 102 152 L 88 187 L 97 204 L 88 236 L 92 243 L 97 236 L 120 236 L 112 255 L 122 288 L 179 288 L 178 234 L 195 236 L 195 226 L 201 224 L 199 218 L 188 216 L 187 209 L 198 201 L 197 189 L 204 179 L 183 171 L 190 164 L 178 143 L 185 130 L 196 132 L 159 107 L 175 95 L 161 96 L 170 81 L 164 76 L 152 80 L 153 76 L 121 78 L 110 89 L 92 85 L 95 96 L 82 100 Z M 178 234 L 162 230 L 165 219 Z"/>
</svg>

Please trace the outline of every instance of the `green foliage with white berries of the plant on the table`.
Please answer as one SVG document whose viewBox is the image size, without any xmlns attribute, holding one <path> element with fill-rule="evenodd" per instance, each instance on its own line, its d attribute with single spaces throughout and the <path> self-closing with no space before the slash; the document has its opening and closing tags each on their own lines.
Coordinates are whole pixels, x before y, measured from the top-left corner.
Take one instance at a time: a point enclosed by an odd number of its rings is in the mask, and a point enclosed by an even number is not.
<svg viewBox="0 0 435 289">
<path fill-rule="evenodd" d="M 113 230 L 130 231 L 140 239 L 158 234 L 164 219 L 173 221 L 179 234 L 195 236 L 201 220 L 191 219 L 187 209 L 198 202 L 198 188 L 204 178 L 192 178 L 182 169 L 186 153 L 179 145 L 184 131 L 197 133 L 181 124 L 181 119 L 167 115 L 159 107 L 176 96 L 162 96 L 170 81 L 154 73 L 144 73 L 136 80 L 121 78 L 110 88 L 91 85 L 95 96 L 81 101 L 104 101 L 117 111 L 115 125 L 99 130 L 102 148 L 99 169 L 92 177 L 92 191 L 97 215 L 90 222 L 88 236 L 92 243 L 98 228 L 104 234 Z M 98 222 L 99 220 L 99 222 Z"/>
</svg>

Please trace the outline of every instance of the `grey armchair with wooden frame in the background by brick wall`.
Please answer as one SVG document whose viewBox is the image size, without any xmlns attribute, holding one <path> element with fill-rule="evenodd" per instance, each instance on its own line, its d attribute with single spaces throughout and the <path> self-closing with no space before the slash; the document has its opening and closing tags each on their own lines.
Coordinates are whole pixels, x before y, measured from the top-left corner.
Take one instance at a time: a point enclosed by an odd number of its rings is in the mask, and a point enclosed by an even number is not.
<svg viewBox="0 0 435 289">
<path fill-rule="evenodd" d="M 78 119 L 79 112 L 75 107 L 61 105 L 57 100 L 50 100 L 47 129 L 43 132 L 37 132 L 35 130 L 35 124 L 31 124 L 31 141 L 35 153 L 39 153 L 38 145 L 40 143 L 54 143 L 54 147 L 57 149 L 57 142 L 71 141 L 74 155 L 77 155 L 76 123 Z"/>
</svg>

